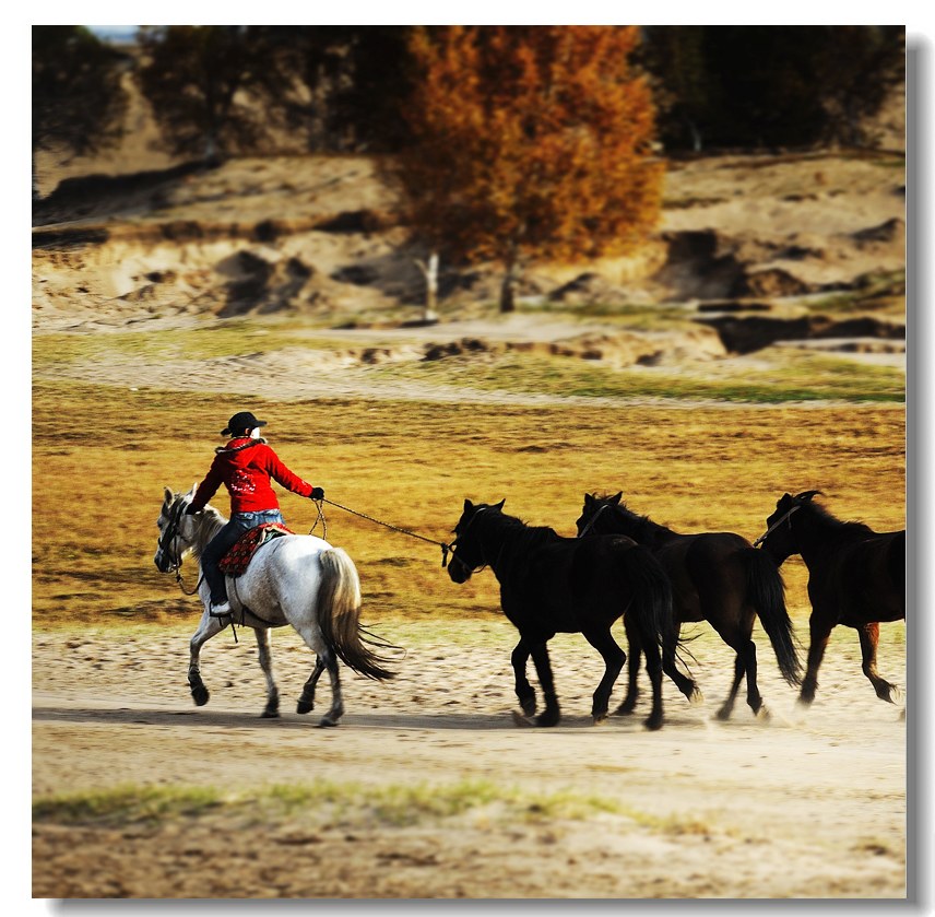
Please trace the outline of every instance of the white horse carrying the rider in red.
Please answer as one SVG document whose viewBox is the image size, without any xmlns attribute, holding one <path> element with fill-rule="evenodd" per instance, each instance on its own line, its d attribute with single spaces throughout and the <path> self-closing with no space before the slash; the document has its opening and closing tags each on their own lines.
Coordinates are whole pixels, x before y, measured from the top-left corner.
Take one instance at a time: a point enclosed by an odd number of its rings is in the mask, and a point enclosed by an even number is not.
<svg viewBox="0 0 935 917">
<path fill-rule="evenodd" d="M 153 561 L 161 573 L 181 567 L 190 552 L 201 556 L 209 541 L 227 522 L 213 506 L 186 515 L 194 497 L 196 485 L 187 494 L 165 489 L 165 499 L 156 525 L 159 542 Z M 344 713 L 338 660 L 343 660 L 358 674 L 383 681 L 393 677 L 381 665 L 386 660 L 367 645 L 359 622 L 360 579 L 354 562 L 341 548 L 332 548 L 311 534 L 274 538 L 261 546 L 246 572 L 236 579 L 227 578 L 232 616 L 210 613 L 211 590 L 199 564 L 198 595 L 204 606 L 201 622 L 191 638 L 188 683 L 198 706 L 208 703 L 208 689 L 199 672 L 201 647 L 228 623 L 236 621 L 252 627 L 260 651 L 260 666 L 267 677 L 267 706 L 262 716 L 279 716 L 280 695 L 273 680 L 270 655 L 270 628 L 292 624 L 316 654 L 315 668 L 305 683 L 297 712 L 307 714 L 315 706 L 315 686 L 328 669 L 331 679 L 331 709 L 321 726 L 336 726 Z M 391 646 L 391 644 L 386 644 Z"/>
</svg>

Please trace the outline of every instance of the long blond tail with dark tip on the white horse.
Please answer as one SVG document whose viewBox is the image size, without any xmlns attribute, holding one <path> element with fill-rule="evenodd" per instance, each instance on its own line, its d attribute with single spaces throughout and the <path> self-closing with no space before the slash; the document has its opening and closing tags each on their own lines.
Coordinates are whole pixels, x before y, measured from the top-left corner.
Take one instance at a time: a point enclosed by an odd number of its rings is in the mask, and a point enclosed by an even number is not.
<svg viewBox="0 0 935 917">
<path fill-rule="evenodd" d="M 330 650 L 360 675 L 384 681 L 394 672 L 384 669 L 384 659 L 367 645 L 360 626 L 360 577 L 357 567 L 341 548 L 330 548 L 318 555 L 321 562 L 321 586 L 318 592 L 318 624 Z"/>
</svg>

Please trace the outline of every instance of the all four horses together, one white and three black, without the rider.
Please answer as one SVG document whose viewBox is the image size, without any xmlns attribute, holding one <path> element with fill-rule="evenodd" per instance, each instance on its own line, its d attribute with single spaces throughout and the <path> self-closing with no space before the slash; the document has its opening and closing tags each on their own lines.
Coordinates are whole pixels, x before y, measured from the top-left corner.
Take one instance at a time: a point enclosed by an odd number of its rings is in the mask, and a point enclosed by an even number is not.
<svg viewBox="0 0 935 917">
<path fill-rule="evenodd" d="M 453 583 L 465 583 L 489 567 L 500 585 L 504 614 L 519 632 L 511 662 L 524 722 L 559 722 L 547 645 L 557 633 L 580 633 L 605 667 L 592 698 L 594 721 L 608 716 L 614 684 L 627 658 L 627 693 L 614 713 L 634 713 L 639 665 L 644 659 L 652 687 L 644 725 L 661 728 L 663 674 L 690 702 L 701 696 L 695 680 L 679 668 L 687 651 L 682 625 L 700 621 L 707 621 L 735 653 L 733 682 L 717 716 L 731 716 L 744 679 L 747 704 L 754 714 L 766 716 L 751 638 L 757 618 L 782 677 L 800 689 L 803 704 L 815 698 L 818 669 L 830 633 L 839 624 L 857 631 L 863 672 L 877 696 L 891 703 L 898 689 L 877 672 L 877 642 L 880 622 L 906 618 L 906 530 L 876 532 L 862 522 L 841 521 L 814 502 L 819 493 L 784 494 L 754 544 L 734 532 L 676 532 L 630 510 L 622 493 L 585 494 L 576 538 L 507 515 L 505 501 L 474 504 L 465 499 L 453 529 L 454 541 L 442 546 L 451 551 L 448 574 Z M 175 572 L 179 581 L 184 557 L 191 553 L 198 559 L 226 522 L 212 506 L 186 515 L 193 495 L 194 486 L 188 493 L 166 487 L 157 520 L 159 539 L 153 560 L 161 572 Z M 804 674 L 780 571 L 793 554 L 801 555 L 808 571 L 812 603 Z M 328 671 L 332 703 L 321 726 L 336 726 L 344 712 L 339 660 L 367 678 L 393 677 L 381 655 L 391 645 L 375 640 L 360 624 L 360 581 L 342 549 L 313 534 L 273 539 L 228 587 L 232 615 L 217 618 L 210 612 L 210 591 L 199 577 L 204 611 L 190 642 L 188 670 L 196 704 L 209 699 L 199 670 L 201 648 L 235 621 L 251 627 L 257 637 L 268 687 L 263 716 L 279 715 L 271 627 L 292 625 L 316 655 L 298 713 L 313 708 L 316 685 Z M 612 634 L 620 619 L 629 657 Z M 530 657 L 543 695 L 541 712 L 528 678 Z"/>
</svg>

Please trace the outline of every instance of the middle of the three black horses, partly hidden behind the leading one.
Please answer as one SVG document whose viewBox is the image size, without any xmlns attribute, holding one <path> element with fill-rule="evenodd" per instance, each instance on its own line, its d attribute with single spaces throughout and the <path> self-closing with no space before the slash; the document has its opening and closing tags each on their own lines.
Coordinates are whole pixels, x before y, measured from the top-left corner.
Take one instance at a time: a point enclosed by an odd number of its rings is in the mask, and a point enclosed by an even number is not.
<svg viewBox="0 0 935 917">
<path fill-rule="evenodd" d="M 632 513 L 620 502 L 623 493 L 609 497 L 585 494 L 578 519 L 579 537 L 588 532 L 626 534 L 649 548 L 672 580 L 678 624 L 707 621 L 736 653 L 734 681 L 727 699 L 718 710 L 718 718 L 731 716 L 744 675 L 747 704 L 755 714 L 762 710 L 766 715 L 757 687 L 757 653 L 751 639 L 756 615 L 772 643 L 783 678 L 796 686 L 802 682 L 802 665 L 785 610 L 785 589 L 778 564 L 739 534 L 680 534 Z M 627 696 L 616 710 L 618 714 L 632 713 L 636 705 L 640 648 L 630 644 Z M 666 667 L 666 673 L 668 671 Z M 677 679 L 673 680 L 693 698 Z"/>
</svg>

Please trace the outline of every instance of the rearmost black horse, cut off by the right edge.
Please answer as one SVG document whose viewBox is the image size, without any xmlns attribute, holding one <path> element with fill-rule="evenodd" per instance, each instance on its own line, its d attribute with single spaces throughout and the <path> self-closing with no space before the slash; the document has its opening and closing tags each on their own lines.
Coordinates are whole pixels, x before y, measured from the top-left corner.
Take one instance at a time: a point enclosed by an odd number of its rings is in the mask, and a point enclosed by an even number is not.
<svg viewBox="0 0 935 917">
<path fill-rule="evenodd" d="M 810 645 L 800 701 L 815 699 L 828 638 L 843 624 L 860 636 L 864 674 L 877 697 L 893 703 L 897 689 L 877 673 L 876 651 L 879 622 L 906 618 L 906 529 L 876 532 L 863 522 L 842 522 L 813 503 L 820 493 L 783 494 L 757 542 L 778 564 L 801 554 L 808 568 Z"/>
</svg>

